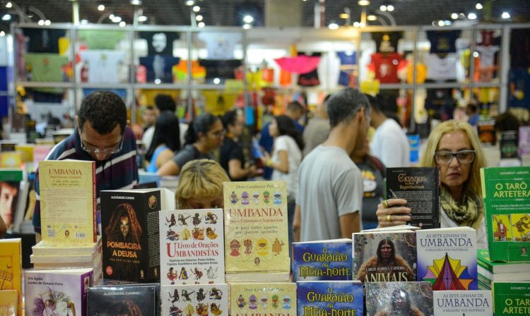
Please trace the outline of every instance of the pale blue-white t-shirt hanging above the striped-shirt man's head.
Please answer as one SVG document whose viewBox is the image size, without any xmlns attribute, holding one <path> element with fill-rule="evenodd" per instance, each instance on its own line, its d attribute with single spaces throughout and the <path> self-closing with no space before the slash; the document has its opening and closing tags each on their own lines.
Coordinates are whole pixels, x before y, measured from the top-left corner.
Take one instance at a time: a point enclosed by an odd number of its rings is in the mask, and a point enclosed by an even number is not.
<svg viewBox="0 0 530 316">
<path fill-rule="evenodd" d="M 81 51 L 79 56 L 88 68 L 89 83 L 119 83 L 119 68 L 124 63 L 124 52 Z"/>
</svg>

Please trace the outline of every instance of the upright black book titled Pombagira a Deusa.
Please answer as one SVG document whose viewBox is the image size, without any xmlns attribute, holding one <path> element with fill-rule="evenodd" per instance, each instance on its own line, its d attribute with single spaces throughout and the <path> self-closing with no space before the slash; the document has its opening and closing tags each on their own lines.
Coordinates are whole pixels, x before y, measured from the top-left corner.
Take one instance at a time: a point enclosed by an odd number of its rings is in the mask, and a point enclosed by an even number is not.
<svg viewBox="0 0 530 316">
<path fill-rule="evenodd" d="M 101 191 L 105 279 L 160 280 L 160 209 L 175 208 L 166 189 Z"/>
</svg>

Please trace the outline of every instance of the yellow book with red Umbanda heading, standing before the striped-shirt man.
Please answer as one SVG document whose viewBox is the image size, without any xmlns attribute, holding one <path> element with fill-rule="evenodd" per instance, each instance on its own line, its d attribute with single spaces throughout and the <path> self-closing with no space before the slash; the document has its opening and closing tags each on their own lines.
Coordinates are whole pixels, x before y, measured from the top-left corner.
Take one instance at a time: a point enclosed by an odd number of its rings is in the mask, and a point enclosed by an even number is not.
<svg viewBox="0 0 530 316">
<path fill-rule="evenodd" d="M 95 162 L 39 162 L 39 186 L 43 241 L 97 241 Z"/>
</svg>

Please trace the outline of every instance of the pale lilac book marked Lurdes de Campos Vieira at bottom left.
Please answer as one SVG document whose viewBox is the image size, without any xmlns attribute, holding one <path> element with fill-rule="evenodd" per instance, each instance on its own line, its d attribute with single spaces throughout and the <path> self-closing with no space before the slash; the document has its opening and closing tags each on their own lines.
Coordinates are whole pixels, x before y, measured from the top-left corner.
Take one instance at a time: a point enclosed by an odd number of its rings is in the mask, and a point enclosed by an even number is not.
<svg viewBox="0 0 530 316">
<path fill-rule="evenodd" d="M 86 315 L 92 269 L 28 270 L 24 273 L 25 315 Z"/>
</svg>

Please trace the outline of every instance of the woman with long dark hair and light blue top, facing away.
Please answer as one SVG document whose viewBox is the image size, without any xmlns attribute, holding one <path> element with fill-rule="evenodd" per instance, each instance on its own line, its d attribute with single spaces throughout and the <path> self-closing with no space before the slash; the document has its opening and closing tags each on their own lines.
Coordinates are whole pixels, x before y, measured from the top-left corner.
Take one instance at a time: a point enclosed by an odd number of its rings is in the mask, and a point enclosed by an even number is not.
<svg viewBox="0 0 530 316">
<path fill-rule="evenodd" d="M 155 123 L 153 140 L 146 152 L 146 171 L 156 172 L 180 150 L 179 119 L 174 113 L 164 111 Z"/>
</svg>

